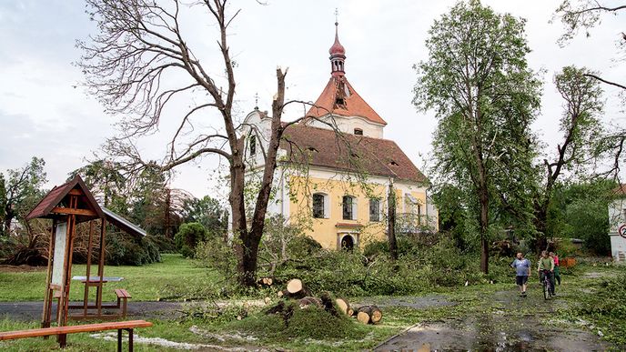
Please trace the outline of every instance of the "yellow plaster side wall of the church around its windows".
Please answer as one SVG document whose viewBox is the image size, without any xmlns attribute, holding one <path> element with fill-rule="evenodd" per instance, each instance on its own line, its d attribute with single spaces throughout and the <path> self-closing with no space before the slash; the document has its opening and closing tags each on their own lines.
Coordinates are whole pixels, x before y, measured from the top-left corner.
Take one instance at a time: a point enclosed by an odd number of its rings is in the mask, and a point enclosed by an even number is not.
<svg viewBox="0 0 626 352">
<path fill-rule="evenodd" d="M 381 179 L 382 180 L 382 179 Z M 387 192 L 389 185 L 371 182 L 365 186 L 361 182 L 349 182 L 339 178 L 313 176 L 290 176 L 289 178 L 290 221 L 305 225 L 306 235 L 313 237 L 321 246 L 338 249 L 339 240 L 344 234 L 357 238 L 356 246 L 363 248 L 369 241 L 383 240 L 387 236 Z M 409 190 L 410 186 L 399 186 L 396 191 L 396 212 L 405 212 L 404 194 L 409 193 L 421 204 L 426 202 L 426 193 L 422 190 Z M 313 194 L 322 193 L 329 200 L 328 214 L 325 218 L 314 218 L 312 210 Z M 356 219 L 343 219 L 343 196 L 356 198 Z M 369 221 L 369 198 L 380 199 L 380 221 Z M 359 227 L 351 227 L 360 225 Z"/>
</svg>

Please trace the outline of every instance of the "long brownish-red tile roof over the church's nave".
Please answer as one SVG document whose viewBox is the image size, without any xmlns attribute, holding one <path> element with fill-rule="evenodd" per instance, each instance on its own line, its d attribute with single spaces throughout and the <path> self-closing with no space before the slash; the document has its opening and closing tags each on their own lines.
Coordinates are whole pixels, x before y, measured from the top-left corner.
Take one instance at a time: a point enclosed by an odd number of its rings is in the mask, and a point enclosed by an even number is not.
<svg viewBox="0 0 626 352">
<path fill-rule="evenodd" d="M 288 161 L 296 164 L 428 182 L 399 146 L 387 139 L 298 124 L 287 127 L 280 146 L 287 151 Z"/>
</svg>

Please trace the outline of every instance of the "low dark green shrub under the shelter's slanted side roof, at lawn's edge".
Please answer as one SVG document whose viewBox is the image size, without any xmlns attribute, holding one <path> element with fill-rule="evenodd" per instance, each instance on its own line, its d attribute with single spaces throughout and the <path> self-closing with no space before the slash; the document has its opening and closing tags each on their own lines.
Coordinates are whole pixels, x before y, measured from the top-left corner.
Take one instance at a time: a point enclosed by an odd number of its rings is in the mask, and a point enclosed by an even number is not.
<svg viewBox="0 0 626 352">
<path fill-rule="evenodd" d="M 136 237 L 122 232 L 106 234 L 106 265 L 143 266 L 161 261 L 153 236 Z"/>
</svg>

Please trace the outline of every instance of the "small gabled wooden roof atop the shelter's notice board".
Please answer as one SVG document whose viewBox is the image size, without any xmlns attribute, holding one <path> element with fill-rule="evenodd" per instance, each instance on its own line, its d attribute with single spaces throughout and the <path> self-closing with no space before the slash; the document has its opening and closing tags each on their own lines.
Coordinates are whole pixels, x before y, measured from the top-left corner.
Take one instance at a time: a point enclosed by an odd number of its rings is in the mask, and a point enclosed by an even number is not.
<svg viewBox="0 0 626 352">
<path fill-rule="evenodd" d="M 78 196 L 76 209 L 70 209 L 69 197 Z M 70 213 L 68 213 L 70 212 Z M 28 213 L 26 220 L 37 217 L 49 219 L 66 219 L 67 214 L 76 215 L 76 223 L 105 217 L 83 179 L 76 175 L 69 182 L 52 188 L 47 195 Z"/>
</svg>

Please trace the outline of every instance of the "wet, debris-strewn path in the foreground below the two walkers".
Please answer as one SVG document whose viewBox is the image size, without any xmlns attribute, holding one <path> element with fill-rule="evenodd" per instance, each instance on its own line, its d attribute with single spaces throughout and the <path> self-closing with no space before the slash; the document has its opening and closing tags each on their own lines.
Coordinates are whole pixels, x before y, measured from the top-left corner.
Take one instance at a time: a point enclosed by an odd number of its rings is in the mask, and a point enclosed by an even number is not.
<svg viewBox="0 0 626 352">
<path fill-rule="evenodd" d="M 465 317 L 419 323 L 375 350 L 591 351 L 607 348 L 606 343 L 588 329 L 550 321 L 556 309 L 566 307 L 558 297 L 546 302 L 539 290 L 525 298 L 511 290 L 496 292 L 484 299 L 480 302 L 483 307 L 469 308 Z"/>
</svg>

